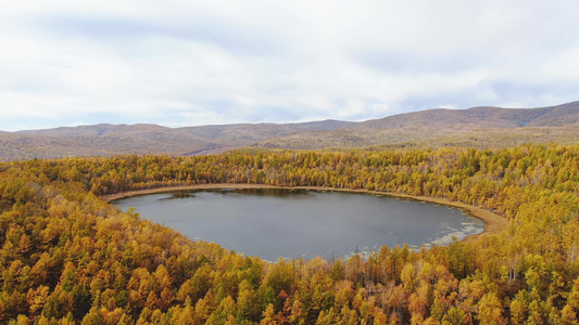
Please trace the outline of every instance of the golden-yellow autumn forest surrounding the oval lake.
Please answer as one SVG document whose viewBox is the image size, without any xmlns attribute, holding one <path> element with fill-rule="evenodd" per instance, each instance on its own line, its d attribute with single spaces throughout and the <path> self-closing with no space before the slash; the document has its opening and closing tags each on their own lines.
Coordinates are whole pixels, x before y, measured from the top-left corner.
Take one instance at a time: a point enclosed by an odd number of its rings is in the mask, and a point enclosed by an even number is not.
<svg viewBox="0 0 579 325">
<path fill-rule="evenodd" d="M 102 198 L 212 183 L 440 197 L 508 226 L 270 263 Z M 579 145 L 3 162 L 0 247 L 2 324 L 578 324 Z"/>
</svg>

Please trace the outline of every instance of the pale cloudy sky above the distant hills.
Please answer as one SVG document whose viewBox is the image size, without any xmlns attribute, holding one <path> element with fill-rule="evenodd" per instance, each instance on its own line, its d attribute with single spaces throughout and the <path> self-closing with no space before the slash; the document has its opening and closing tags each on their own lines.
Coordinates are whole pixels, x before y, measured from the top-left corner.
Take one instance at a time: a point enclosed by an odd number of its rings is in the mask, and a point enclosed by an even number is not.
<svg viewBox="0 0 579 325">
<path fill-rule="evenodd" d="M 579 100 L 579 1 L 0 2 L 0 130 Z"/>
</svg>

